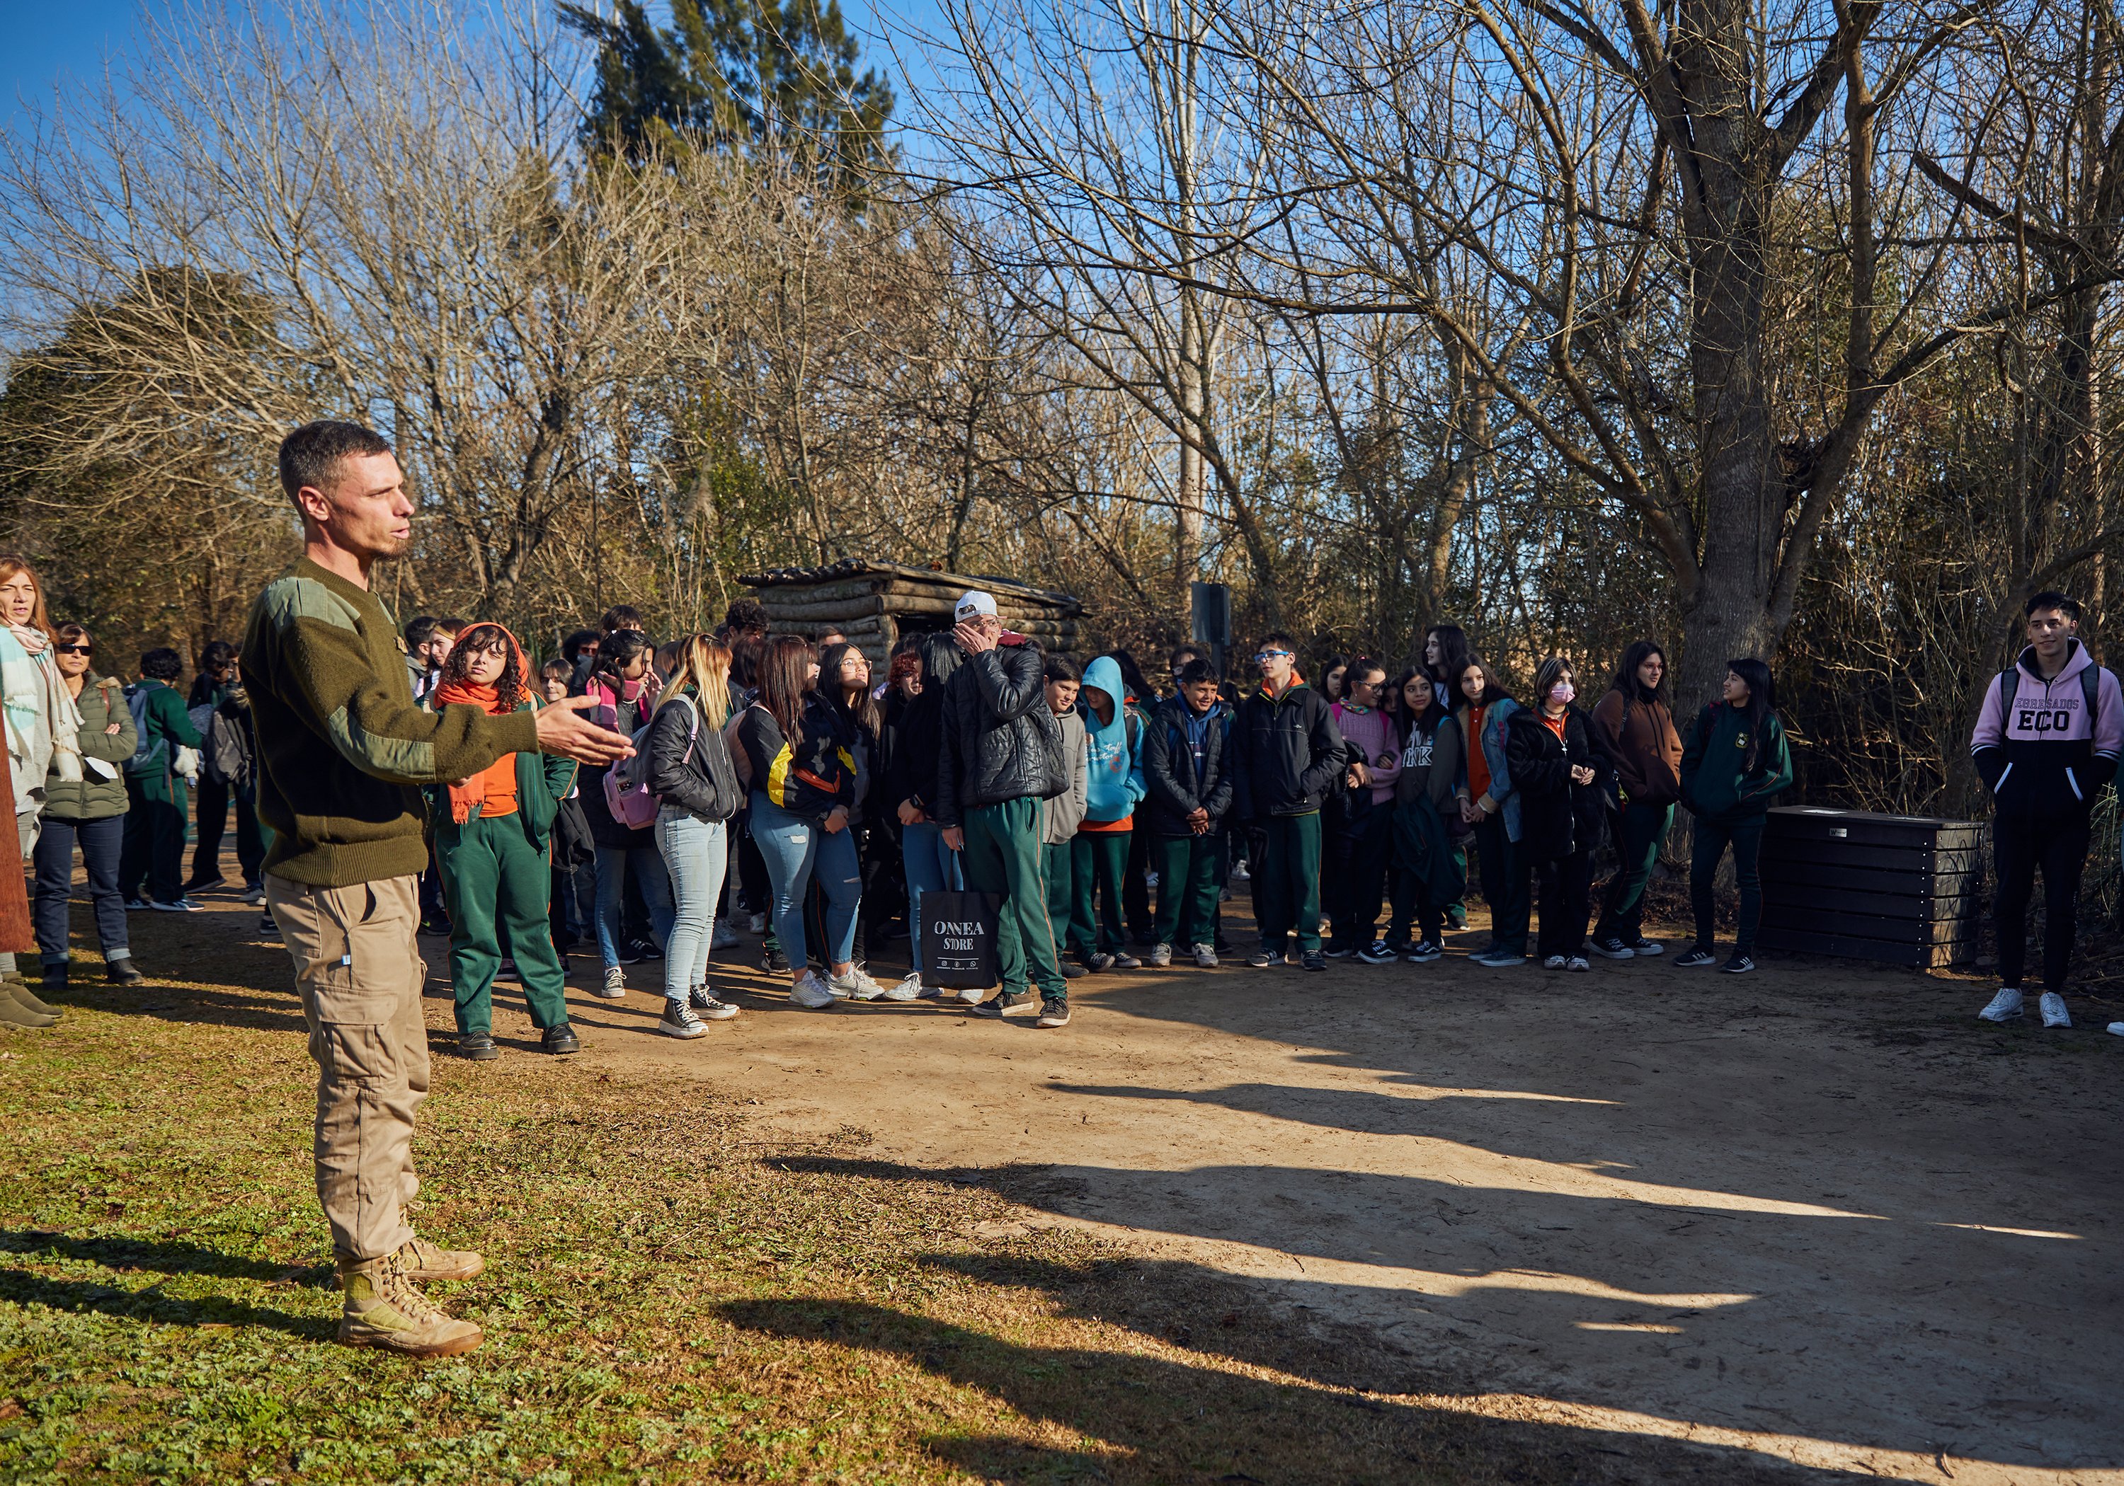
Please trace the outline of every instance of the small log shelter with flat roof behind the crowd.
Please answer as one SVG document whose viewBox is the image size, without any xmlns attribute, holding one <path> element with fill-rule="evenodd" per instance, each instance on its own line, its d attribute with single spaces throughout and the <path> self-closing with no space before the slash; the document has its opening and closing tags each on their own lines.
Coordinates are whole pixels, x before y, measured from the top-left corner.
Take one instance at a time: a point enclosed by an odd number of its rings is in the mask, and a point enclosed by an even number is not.
<svg viewBox="0 0 2124 1486">
<path fill-rule="evenodd" d="M 994 597 L 996 616 L 1043 650 L 1077 647 L 1083 605 L 1073 594 L 1047 592 L 1009 577 L 941 573 L 926 567 L 841 558 L 826 567 L 771 567 L 737 582 L 752 588 L 777 635 L 818 637 L 841 630 L 879 664 L 901 635 L 952 628 L 952 609 L 969 588 Z"/>
</svg>

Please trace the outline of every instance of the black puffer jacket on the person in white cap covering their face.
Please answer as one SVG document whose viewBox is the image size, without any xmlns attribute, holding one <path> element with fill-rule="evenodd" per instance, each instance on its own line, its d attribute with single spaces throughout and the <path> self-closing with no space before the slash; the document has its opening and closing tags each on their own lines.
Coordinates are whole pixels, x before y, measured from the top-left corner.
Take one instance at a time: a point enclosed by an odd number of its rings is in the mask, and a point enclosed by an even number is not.
<svg viewBox="0 0 2124 1486">
<path fill-rule="evenodd" d="M 1041 647 L 1028 639 L 966 656 L 945 681 L 930 811 L 939 826 L 964 824 L 975 805 L 1049 800 L 1068 790 L 1043 667 Z"/>
</svg>

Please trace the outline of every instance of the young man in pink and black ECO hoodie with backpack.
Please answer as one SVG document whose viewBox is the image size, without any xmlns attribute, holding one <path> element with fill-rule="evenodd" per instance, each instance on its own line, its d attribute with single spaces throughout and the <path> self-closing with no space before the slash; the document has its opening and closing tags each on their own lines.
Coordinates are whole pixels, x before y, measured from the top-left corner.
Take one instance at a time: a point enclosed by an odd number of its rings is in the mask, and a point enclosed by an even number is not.
<svg viewBox="0 0 2124 1486">
<path fill-rule="evenodd" d="M 2079 643 L 2079 603 L 2060 592 L 2028 599 L 2028 647 L 1984 690 L 1969 751 L 1992 792 L 1992 900 L 1999 993 L 1977 1013 L 2016 1021 L 2022 1010 L 2024 921 L 2043 868 L 2043 1025 L 2069 1027 L 2065 972 L 2073 960 L 2079 872 L 2088 864 L 2094 800 L 2124 751 L 2124 692 Z"/>
</svg>

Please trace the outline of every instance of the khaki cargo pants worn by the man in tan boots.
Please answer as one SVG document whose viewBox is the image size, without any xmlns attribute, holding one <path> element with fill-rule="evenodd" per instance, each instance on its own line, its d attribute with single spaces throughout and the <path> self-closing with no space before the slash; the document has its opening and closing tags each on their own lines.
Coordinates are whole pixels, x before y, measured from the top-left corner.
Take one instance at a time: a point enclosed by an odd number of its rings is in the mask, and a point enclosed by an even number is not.
<svg viewBox="0 0 2124 1486">
<path fill-rule="evenodd" d="M 412 1114 L 427 1098 L 421 879 L 304 887 L 266 875 L 316 1059 L 316 1199 L 331 1246 L 380 1259 L 412 1238 Z"/>
</svg>

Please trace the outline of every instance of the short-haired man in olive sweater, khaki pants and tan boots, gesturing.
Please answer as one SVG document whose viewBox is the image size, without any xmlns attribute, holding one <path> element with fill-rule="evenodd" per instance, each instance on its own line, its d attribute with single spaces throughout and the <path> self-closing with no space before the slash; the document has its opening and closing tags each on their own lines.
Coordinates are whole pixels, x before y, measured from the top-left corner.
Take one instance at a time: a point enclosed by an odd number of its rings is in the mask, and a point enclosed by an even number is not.
<svg viewBox="0 0 2124 1486">
<path fill-rule="evenodd" d="M 370 567 L 412 543 L 412 499 L 391 446 L 353 422 L 280 444 L 280 486 L 304 552 L 251 605 L 242 673 L 259 741 L 259 817 L 272 828 L 266 902 L 295 962 L 316 1059 L 316 1197 L 346 1293 L 340 1342 L 452 1357 L 480 1329 L 414 1280 L 469 1280 L 484 1261 L 414 1238 L 404 1204 L 412 1117 L 427 1095 L 427 966 L 414 945 L 427 864 L 418 785 L 465 779 L 503 754 L 610 764 L 631 749 L 571 698 L 506 718 L 423 711 L 397 624 Z"/>
</svg>

